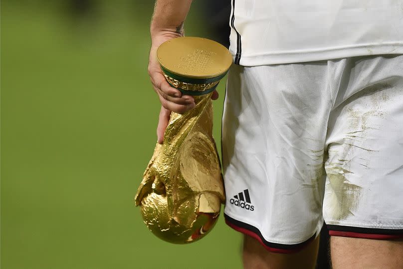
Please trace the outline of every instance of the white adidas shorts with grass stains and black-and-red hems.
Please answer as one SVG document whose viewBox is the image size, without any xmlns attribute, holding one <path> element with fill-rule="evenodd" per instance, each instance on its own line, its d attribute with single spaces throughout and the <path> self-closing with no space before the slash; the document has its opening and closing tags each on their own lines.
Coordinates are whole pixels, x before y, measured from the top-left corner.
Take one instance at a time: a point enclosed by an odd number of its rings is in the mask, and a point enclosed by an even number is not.
<svg viewBox="0 0 403 269">
<path fill-rule="evenodd" d="M 269 251 L 403 237 L 403 55 L 244 67 L 227 79 L 225 219 Z"/>
</svg>

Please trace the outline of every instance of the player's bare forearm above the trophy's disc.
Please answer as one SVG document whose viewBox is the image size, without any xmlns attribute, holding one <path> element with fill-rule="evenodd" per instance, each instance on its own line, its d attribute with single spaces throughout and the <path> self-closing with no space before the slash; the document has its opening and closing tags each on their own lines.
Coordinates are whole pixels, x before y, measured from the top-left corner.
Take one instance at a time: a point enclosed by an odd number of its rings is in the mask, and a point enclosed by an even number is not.
<svg viewBox="0 0 403 269">
<path fill-rule="evenodd" d="M 183 35 L 183 24 L 192 0 L 156 0 L 151 20 L 151 36 L 164 31 Z"/>
</svg>

